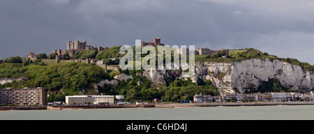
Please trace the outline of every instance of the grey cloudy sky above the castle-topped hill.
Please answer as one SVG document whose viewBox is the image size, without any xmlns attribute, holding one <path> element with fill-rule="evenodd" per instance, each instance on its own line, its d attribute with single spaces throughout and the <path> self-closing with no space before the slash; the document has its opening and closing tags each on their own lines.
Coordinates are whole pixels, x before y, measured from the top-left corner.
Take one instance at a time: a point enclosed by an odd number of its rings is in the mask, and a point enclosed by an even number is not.
<svg viewBox="0 0 314 134">
<path fill-rule="evenodd" d="M 253 47 L 314 64 L 311 0 L 2 0 L 0 59 L 135 40 L 211 50 Z"/>
</svg>

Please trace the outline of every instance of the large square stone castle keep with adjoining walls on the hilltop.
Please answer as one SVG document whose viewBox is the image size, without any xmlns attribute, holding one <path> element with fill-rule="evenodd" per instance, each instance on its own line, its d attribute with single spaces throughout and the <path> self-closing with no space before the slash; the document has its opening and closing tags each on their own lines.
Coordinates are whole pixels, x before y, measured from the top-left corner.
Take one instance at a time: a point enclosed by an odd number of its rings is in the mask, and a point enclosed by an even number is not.
<svg viewBox="0 0 314 134">
<path fill-rule="evenodd" d="M 91 45 L 87 45 L 87 41 L 82 41 L 76 40 L 76 41 L 68 41 L 67 45 L 67 50 L 53 50 L 52 53 L 57 53 L 58 56 L 63 56 L 64 54 L 68 53 L 70 57 L 73 57 L 73 55 L 76 52 L 82 51 L 82 50 L 95 50 L 97 52 L 103 51 L 107 49 L 107 47 L 93 47 Z"/>
</svg>

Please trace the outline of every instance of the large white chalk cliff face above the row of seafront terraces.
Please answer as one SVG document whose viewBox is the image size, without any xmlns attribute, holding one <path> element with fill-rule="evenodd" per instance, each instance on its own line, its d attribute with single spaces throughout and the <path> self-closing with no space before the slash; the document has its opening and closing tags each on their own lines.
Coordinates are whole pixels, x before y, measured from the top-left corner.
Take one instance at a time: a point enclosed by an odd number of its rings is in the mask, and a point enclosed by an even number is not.
<svg viewBox="0 0 314 134">
<path fill-rule="evenodd" d="M 198 63 L 193 80 L 211 80 L 220 94 L 255 90 L 263 81 L 278 78 L 284 87 L 308 91 L 313 89 L 314 74 L 300 66 L 269 59 L 248 59 L 241 62 Z"/>
</svg>

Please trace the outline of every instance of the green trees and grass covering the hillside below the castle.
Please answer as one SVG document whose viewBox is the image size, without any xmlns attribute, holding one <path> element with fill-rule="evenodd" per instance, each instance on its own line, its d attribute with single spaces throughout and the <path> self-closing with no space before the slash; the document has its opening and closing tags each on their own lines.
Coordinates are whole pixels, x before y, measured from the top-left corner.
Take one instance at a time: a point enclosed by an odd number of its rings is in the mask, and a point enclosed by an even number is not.
<svg viewBox="0 0 314 134">
<path fill-rule="evenodd" d="M 75 57 L 79 59 L 95 57 L 96 59 L 105 59 L 107 64 L 118 64 L 119 61 L 110 61 L 109 58 L 123 57 L 124 54 L 119 54 L 120 47 L 111 47 L 98 53 L 94 52 L 94 50 L 83 50 L 77 52 Z M 142 59 L 146 56 L 147 54 L 142 54 Z M 171 56 L 173 59 L 174 54 L 171 54 Z M 47 58 L 49 59 L 49 57 Z M 230 63 L 245 59 L 277 59 L 295 66 L 301 66 L 305 70 L 314 71 L 314 66 L 311 64 L 298 61 L 297 59 L 278 58 L 253 48 L 230 50 L 229 54 L 220 51 L 211 55 L 195 55 L 195 61 Z M 105 70 L 96 64 L 78 64 L 76 62 L 68 63 L 63 61 L 56 63 L 53 60 L 50 61 L 53 62 L 51 64 L 43 64 L 41 60 L 32 62 L 21 57 L 10 57 L 0 60 L 0 78 L 29 78 L 28 81 L 0 84 L 0 88 L 43 87 L 47 89 L 48 101 L 50 102 L 64 101 L 64 96 L 78 95 L 80 93 L 88 95 L 101 93 L 125 95 L 126 101 L 130 102 L 152 101 L 154 98 L 163 99 L 163 101 L 180 102 L 193 100 L 195 94 L 210 94 L 213 96 L 219 94 L 211 81 L 198 81 L 200 83 L 195 84 L 190 79 L 175 80 L 173 77 L 170 77 L 166 79 L 167 84 L 165 85 L 153 85 L 147 80 L 147 77 L 135 76 L 136 73 L 142 73 L 143 70 L 119 69 L 105 73 Z M 122 81 L 114 86 L 98 87 L 98 93 L 96 92 L 95 84 L 101 80 L 113 80 L 113 77 L 119 73 L 133 75 L 133 80 Z M 263 85 L 259 87 L 260 91 L 273 91 L 276 87 L 280 87 L 281 84 L 274 80 L 274 82 L 266 82 Z M 288 89 L 285 89 L 285 91 L 288 91 Z"/>
</svg>

